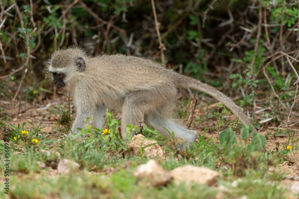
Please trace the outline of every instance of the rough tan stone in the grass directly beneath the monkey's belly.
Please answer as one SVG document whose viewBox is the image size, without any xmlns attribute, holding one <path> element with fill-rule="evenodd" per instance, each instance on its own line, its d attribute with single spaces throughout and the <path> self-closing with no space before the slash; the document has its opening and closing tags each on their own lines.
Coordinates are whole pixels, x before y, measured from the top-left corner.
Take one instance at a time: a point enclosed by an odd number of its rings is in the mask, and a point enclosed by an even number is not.
<svg viewBox="0 0 299 199">
<path fill-rule="evenodd" d="M 150 145 L 150 146 L 148 146 Z M 147 147 L 146 147 L 147 146 Z M 138 134 L 132 138 L 132 141 L 128 144 L 130 151 L 126 152 L 126 155 L 140 155 L 143 147 L 144 155 L 149 155 L 150 158 L 158 158 L 159 160 L 165 160 L 165 151 L 161 149 L 160 145 L 155 140 L 147 140 L 144 135 Z"/>
</svg>

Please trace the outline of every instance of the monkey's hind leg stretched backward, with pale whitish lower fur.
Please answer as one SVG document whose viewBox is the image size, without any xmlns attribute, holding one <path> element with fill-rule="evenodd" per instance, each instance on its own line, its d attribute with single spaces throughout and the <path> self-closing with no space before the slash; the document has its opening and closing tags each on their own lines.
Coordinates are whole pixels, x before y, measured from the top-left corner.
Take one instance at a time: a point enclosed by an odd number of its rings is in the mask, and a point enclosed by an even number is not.
<svg viewBox="0 0 299 199">
<path fill-rule="evenodd" d="M 197 132 L 195 130 L 185 129 L 163 114 L 145 113 L 144 123 L 150 128 L 154 128 L 153 126 L 155 126 L 162 135 L 168 138 L 172 138 L 173 133 L 174 138 L 181 139 L 187 144 L 191 144 L 191 142 L 196 140 Z M 180 144 L 177 147 L 183 151 L 186 148 L 186 143 Z"/>
</svg>

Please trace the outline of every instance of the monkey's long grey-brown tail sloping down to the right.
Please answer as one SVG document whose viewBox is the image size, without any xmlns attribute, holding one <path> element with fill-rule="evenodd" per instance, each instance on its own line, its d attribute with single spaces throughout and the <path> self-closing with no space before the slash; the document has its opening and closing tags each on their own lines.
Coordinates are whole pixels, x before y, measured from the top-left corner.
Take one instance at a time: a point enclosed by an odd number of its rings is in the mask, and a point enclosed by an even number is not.
<svg viewBox="0 0 299 199">
<path fill-rule="evenodd" d="M 217 99 L 219 102 L 223 103 L 226 107 L 228 107 L 235 115 L 237 115 L 237 117 L 242 121 L 244 125 L 252 126 L 252 122 L 244 114 L 241 108 L 237 104 L 235 104 L 234 101 L 231 100 L 231 98 L 224 95 L 216 88 L 187 76 L 179 75 L 179 77 L 176 78 L 177 87 L 191 88 L 211 95 L 213 98 Z M 253 128 L 252 132 L 256 133 L 257 129 Z"/>
</svg>

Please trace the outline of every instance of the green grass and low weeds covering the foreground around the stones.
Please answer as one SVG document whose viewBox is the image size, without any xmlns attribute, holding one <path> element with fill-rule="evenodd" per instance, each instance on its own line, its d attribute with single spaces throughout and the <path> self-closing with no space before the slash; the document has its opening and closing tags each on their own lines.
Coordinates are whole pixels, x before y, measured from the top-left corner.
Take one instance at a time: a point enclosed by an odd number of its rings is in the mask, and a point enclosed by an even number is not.
<svg viewBox="0 0 299 199">
<path fill-rule="evenodd" d="M 106 121 L 110 133 L 103 135 L 103 129 L 89 126 L 80 132 L 80 135 L 86 136 L 85 140 L 76 139 L 76 136 L 48 139 L 40 125 L 28 129 L 30 125 L 10 125 L 11 198 L 170 199 L 215 198 L 216 195 L 218 198 L 240 198 L 244 195 L 247 198 L 292 198 L 289 191 L 280 185 L 283 174 L 280 174 L 278 165 L 283 161 L 283 154 L 261 153 L 259 149 L 266 140 L 261 135 L 254 135 L 248 142 L 252 128 L 242 127 L 239 137 L 227 129 L 220 133 L 216 142 L 199 135 L 197 143 L 181 152 L 175 147 L 176 141 L 162 137 L 155 129 L 144 127 L 139 133 L 158 141 L 167 152 L 167 161 L 159 162 L 165 170 L 192 164 L 220 172 L 218 186 L 184 183 L 177 186 L 171 182 L 156 188 L 138 184 L 137 177 L 132 175 L 133 170 L 149 158 L 142 154 L 142 150 L 139 156 L 124 155 L 129 149 L 118 134 L 120 122 L 111 113 L 107 112 Z M 129 134 L 136 129 L 128 126 L 127 132 Z M 24 130 L 28 134 L 22 134 Z M 102 140 L 103 144 L 99 145 Z M 240 144 L 242 140 L 245 144 Z M 294 141 L 297 140 L 290 141 L 292 150 L 296 148 Z M 4 157 L 3 152 L 0 147 L 1 157 Z M 50 167 L 50 162 L 58 162 L 62 158 L 79 163 L 80 170 L 71 171 L 68 175 L 58 174 Z M 47 167 L 42 169 L 41 163 Z M 269 172 L 270 166 L 276 171 Z M 0 164 L 0 170 L 4 169 L 4 164 Z M 0 179 L 4 181 L 2 176 Z M 1 192 L 1 198 L 3 195 Z"/>
</svg>

